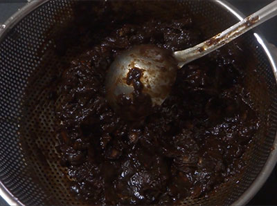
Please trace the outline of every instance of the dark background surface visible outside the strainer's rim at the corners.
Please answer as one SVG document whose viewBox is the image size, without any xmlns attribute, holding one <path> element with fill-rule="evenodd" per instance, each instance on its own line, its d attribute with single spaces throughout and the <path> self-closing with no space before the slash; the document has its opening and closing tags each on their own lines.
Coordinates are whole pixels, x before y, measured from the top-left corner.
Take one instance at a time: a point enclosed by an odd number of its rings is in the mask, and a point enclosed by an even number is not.
<svg viewBox="0 0 277 206">
<path fill-rule="evenodd" d="M 41 1 L 41 0 L 35 0 Z M 213 1 L 213 0 L 206 0 Z M 250 15 L 272 0 L 228 0 L 233 6 L 238 8 L 244 15 Z M 26 4 L 27 0 L 0 0 L 0 24 L 3 24 L 8 17 Z M 270 19 L 258 26 L 260 33 L 271 44 L 277 46 L 277 17 Z M 277 55 L 277 54 L 276 54 Z M 0 205 L 7 205 L 0 197 Z M 248 205 L 277 205 L 277 171 L 272 172 L 265 185 Z"/>
</svg>

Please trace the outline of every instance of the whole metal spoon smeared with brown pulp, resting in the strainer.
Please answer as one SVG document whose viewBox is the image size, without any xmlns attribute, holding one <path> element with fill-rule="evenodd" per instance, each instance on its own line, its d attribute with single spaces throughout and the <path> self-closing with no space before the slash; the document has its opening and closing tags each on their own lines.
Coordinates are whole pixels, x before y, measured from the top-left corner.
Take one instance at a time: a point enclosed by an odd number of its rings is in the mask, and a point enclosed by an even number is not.
<svg viewBox="0 0 277 206">
<path fill-rule="evenodd" d="M 168 50 L 154 45 L 140 45 L 118 55 L 109 67 L 105 86 L 109 104 L 118 110 L 118 96 L 132 99 L 134 87 L 127 84 L 127 75 L 133 68 L 141 70 L 142 93 L 148 94 L 152 106 L 161 105 L 168 97 L 175 82 L 177 69 L 199 59 L 213 50 L 228 44 L 251 28 L 262 24 L 277 15 L 277 1 L 253 13 L 230 28 L 220 32 L 201 44 L 186 50 L 169 53 Z M 122 110 L 121 110 L 122 111 Z"/>
</svg>

